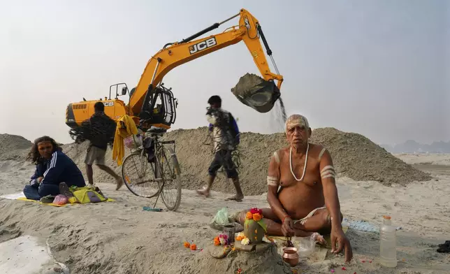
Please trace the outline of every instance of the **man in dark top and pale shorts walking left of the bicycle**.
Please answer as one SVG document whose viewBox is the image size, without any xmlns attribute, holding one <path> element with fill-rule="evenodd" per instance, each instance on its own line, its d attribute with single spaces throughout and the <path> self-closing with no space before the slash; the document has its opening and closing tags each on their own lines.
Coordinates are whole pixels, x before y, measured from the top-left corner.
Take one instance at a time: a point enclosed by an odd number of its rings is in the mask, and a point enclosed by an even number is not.
<svg viewBox="0 0 450 274">
<path fill-rule="evenodd" d="M 95 161 L 96 166 L 115 178 L 117 182 L 116 190 L 119 190 L 123 185 L 122 178 L 105 164 L 106 149 L 110 141 L 107 132 L 111 127 L 115 127 L 115 122 L 105 114 L 105 105 L 102 102 L 96 102 L 94 110 L 95 113 L 89 119 L 92 138 L 89 139 L 89 147 L 87 148 L 85 159 L 87 180 L 89 185 L 94 185 L 92 164 Z"/>
</svg>

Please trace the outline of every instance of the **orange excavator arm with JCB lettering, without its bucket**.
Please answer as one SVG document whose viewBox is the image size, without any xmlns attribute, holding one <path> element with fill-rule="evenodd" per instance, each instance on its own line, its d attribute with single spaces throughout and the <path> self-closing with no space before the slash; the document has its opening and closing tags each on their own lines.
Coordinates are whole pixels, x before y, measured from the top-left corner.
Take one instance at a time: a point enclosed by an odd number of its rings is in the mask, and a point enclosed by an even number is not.
<svg viewBox="0 0 450 274">
<path fill-rule="evenodd" d="M 217 29 L 221 24 L 238 16 L 240 16 L 238 26 L 228 28 L 221 34 L 194 40 L 212 29 Z M 261 39 L 263 40 L 267 54 L 270 56 L 277 74 L 272 73 L 269 69 L 266 56 L 264 55 L 263 48 L 259 41 L 259 36 L 261 36 Z M 228 18 L 224 22 L 215 23 L 211 27 L 200 31 L 181 42 L 169 43 L 165 45 L 162 50 L 157 52 L 157 54 L 147 62 L 147 66 L 140 77 L 138 85 L 131 95 L 129 108 L 133 115 L 140 115 L 141 117 L 150 115 L 149 103 L 151 91 L 161 83 L 164 75 L 170 70 L 174 69 L 176 66 L 197 59 L 198 57 L 225 48 L 228 45 L 239 43 L 240 41 L 244 41 L 245 45 L 247 45 L 263 79 L 267 81 L 277 80 L 277 89 L 280 89 L 283 77 L 278 72 L 272 57 L 272 51 L 264 37 L 261 25 L 252 14 L 245 9 L 241 9 L 240 13 Z M 144 113 L 147 113 L 147 115 L 143 115 Z"/>
</svg>

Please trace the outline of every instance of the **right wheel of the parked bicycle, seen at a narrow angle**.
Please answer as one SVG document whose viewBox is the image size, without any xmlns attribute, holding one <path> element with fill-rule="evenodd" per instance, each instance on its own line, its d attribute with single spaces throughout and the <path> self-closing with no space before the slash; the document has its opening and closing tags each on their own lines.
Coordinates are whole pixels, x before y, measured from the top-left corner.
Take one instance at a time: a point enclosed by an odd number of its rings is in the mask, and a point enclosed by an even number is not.
<svg viewBox="0 0 450 274">
<path fill-rule="evenodd" d="M 180 165 L 175 152 L 170 147 L 161 145 L 157 155 L 163 179 L 159 182 L 161 198 L 168 210 L 175 211 L 181 203 Z"/>
</svg>

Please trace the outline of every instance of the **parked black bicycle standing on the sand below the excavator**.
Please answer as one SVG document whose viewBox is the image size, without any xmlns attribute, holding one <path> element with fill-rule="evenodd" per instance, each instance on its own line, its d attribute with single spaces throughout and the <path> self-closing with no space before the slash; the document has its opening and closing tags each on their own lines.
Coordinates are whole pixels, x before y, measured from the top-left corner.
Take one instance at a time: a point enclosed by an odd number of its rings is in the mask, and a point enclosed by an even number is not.
<svg viewBox="0 0 450 274">
<path fill-rule="evenodd" d="M 136 147 L 124 159 L 122 178 L 134 195 L 145 198 L 157 196 L 157 201 L 161 195 L 166 208 L 175 211 L 181 202 L 181 171 L 175 154 L 175 140 L 159 140 L 164 133 L 166 129 L 148 129 L 144 138 L 138 138 L 138 142 L 133 136 Z M 166 147 L 168 144 L 173 144 L 173 149 Z M 138 178 L 133 177 L 136 174 Z M 170 199 L 170 186 L 175 190 L 175 199 Z M 140 192 L 138 189 L 143 191 Z M 154 206 L 157 201 L 154 202 Z"/>
</svg>

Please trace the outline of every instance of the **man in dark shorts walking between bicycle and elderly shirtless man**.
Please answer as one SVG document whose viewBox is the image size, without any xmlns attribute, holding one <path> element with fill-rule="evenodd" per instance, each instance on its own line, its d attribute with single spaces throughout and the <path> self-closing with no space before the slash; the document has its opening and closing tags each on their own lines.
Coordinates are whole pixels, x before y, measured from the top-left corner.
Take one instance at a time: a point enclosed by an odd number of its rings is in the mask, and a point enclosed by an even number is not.
<svg viewBox="0 0 450 274">
<path fill-rule="evenodd" d="M 224 167 L 226 177 L 231 178 L 236 189 L 236 195 L 226 200 L 242 201 L 244 194 L 240 189 L 239 175 L 236 166 L 231 158 L 231 152 L 239 142 L 239 132 L 233 115 L 222 109 L 222 99 L 217 96 L 211 96 L 208 99 L 210 108 L 206 113 L 206 119 L 210 122 L 210 131 L 214 143 L 214 159 L 208 168 L 208 182 L 203 189 L 198 189 L 197 193 L 206 197 L 210 196 L 210 189 L 214 182 L 217 171 L 221 166 Z"/>
</svg>

